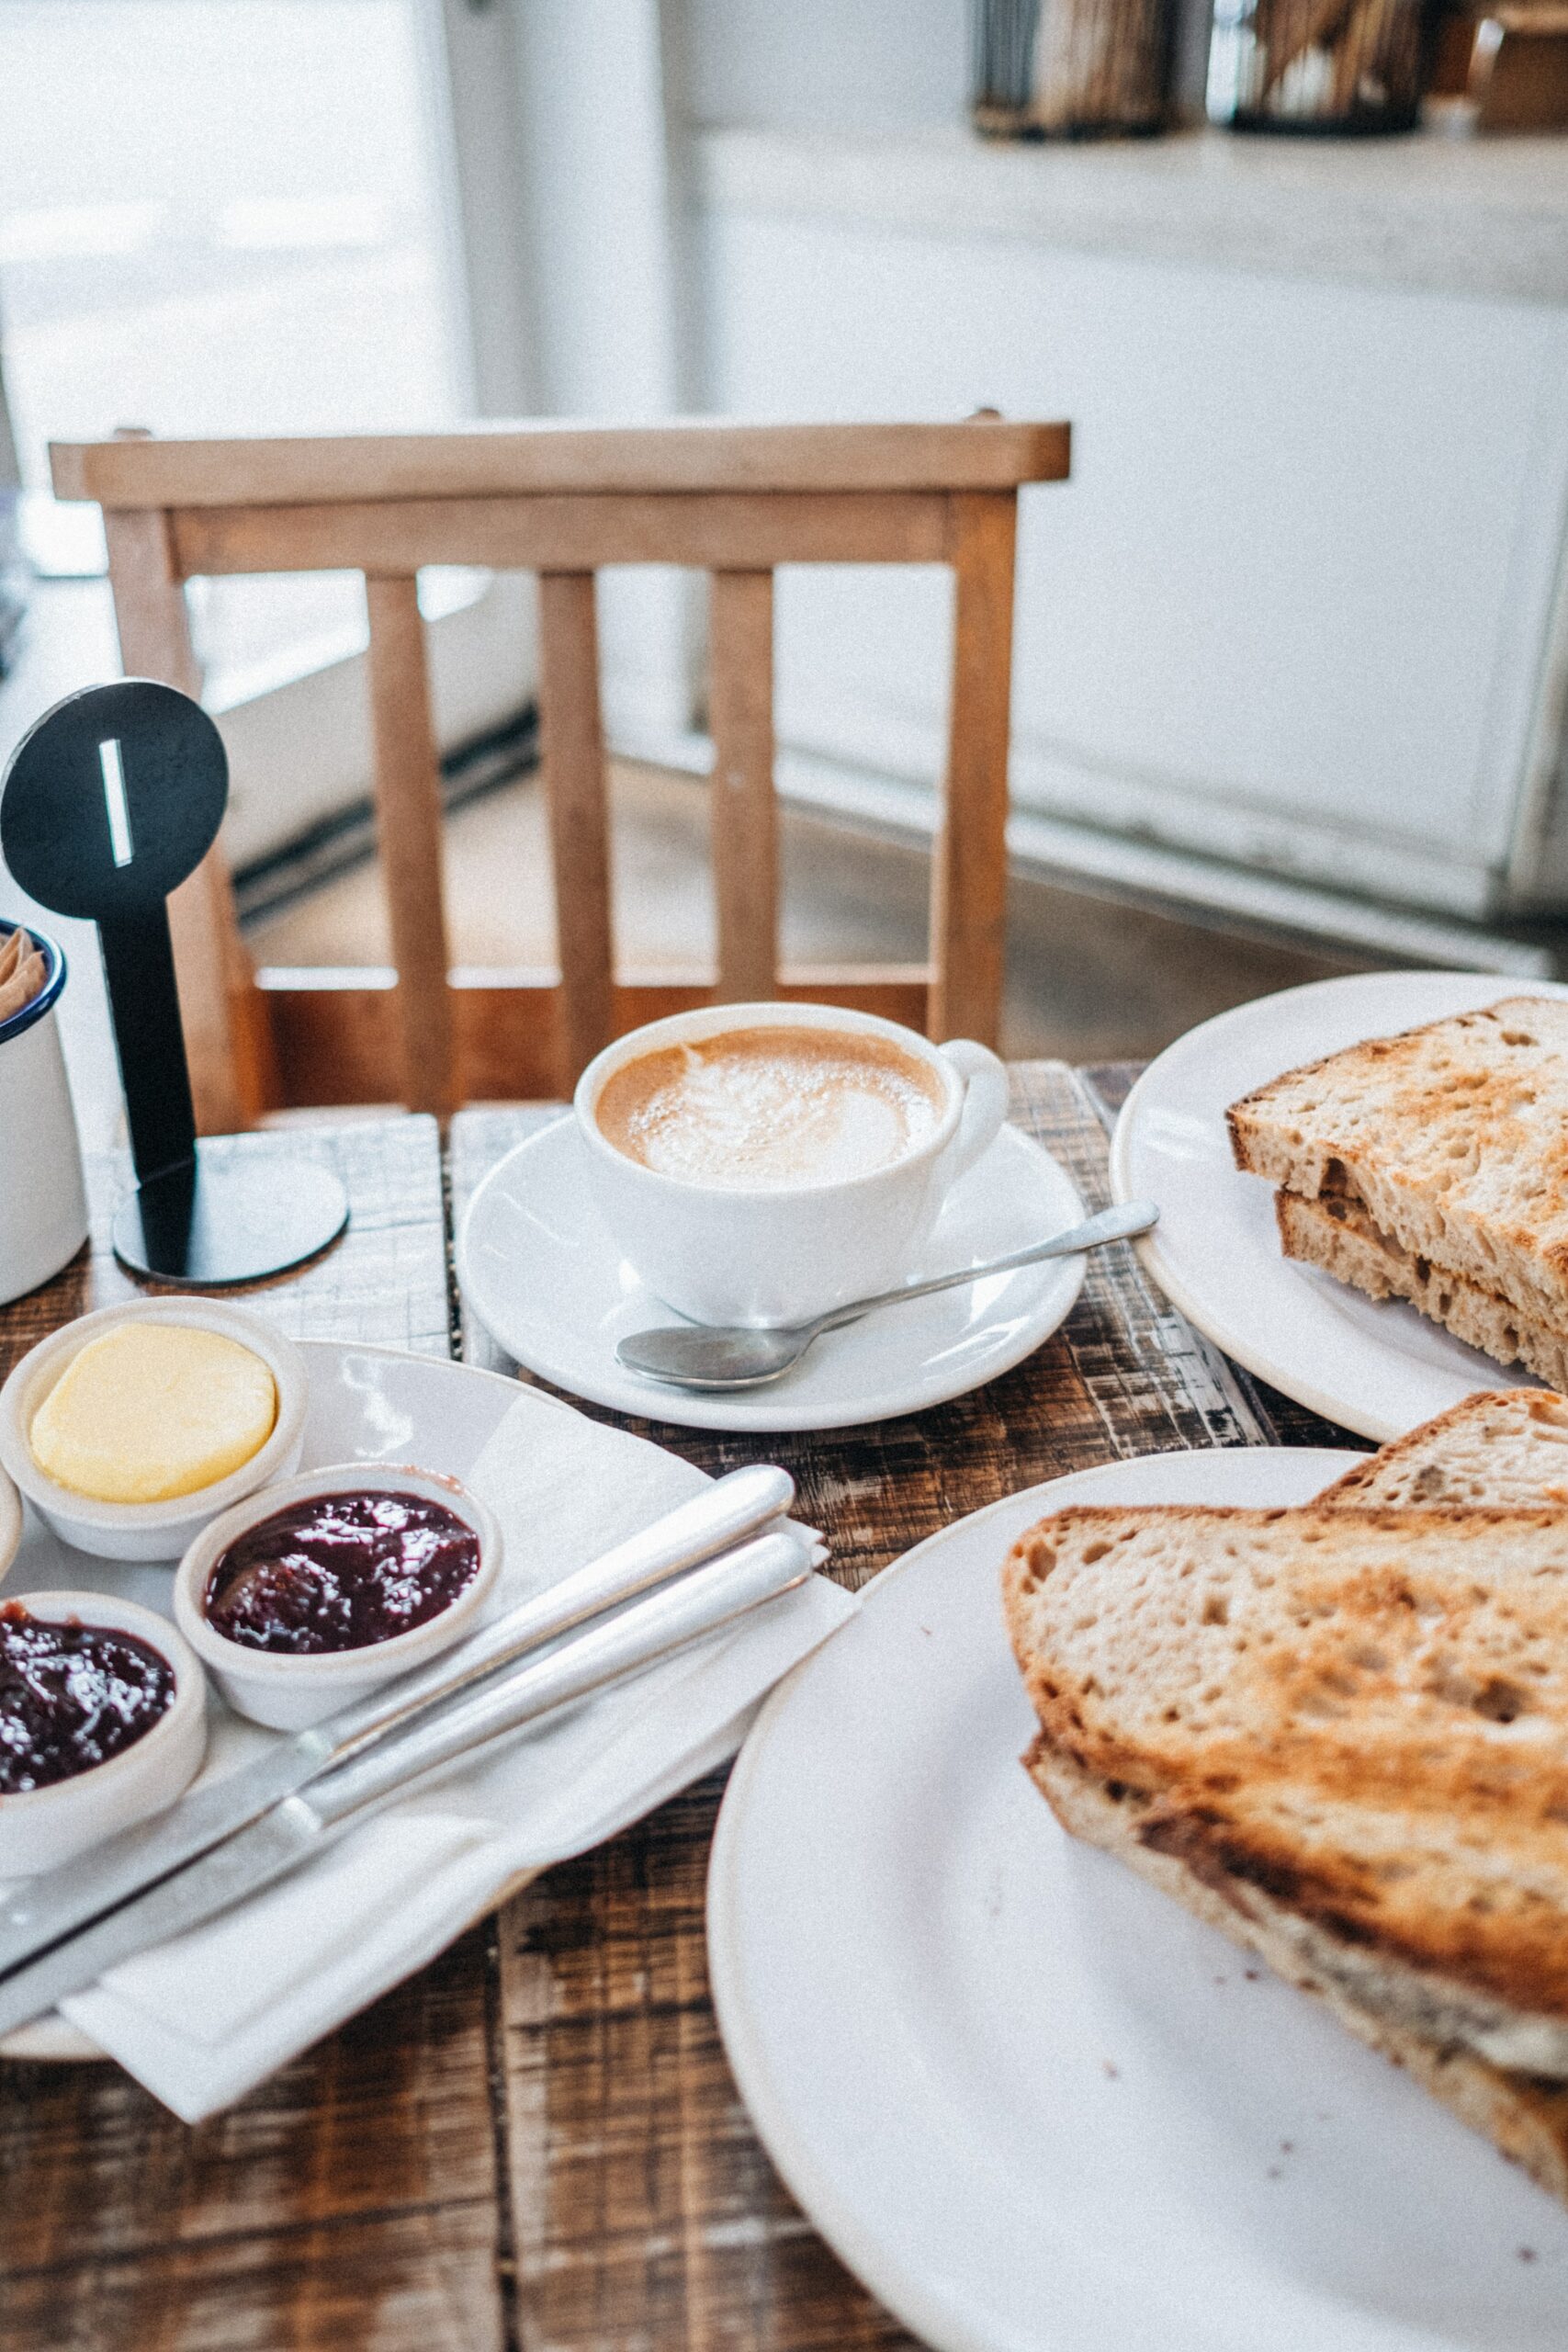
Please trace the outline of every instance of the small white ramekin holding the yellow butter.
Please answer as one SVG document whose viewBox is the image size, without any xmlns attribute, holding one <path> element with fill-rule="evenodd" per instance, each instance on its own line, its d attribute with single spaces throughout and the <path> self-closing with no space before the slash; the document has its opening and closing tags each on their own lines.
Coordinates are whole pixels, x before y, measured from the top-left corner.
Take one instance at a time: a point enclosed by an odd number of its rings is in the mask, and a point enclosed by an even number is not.
<svg viewBox="0 0 1568 2352">
<path fill-rule="evenodd" d="M 96 1503 L 92 1496 L 59 1486 L 33 1456 L 28 1437 L 33 1414 L 87 1341 L 101 1338 L 125 1322 L 216 1331 L 259 1355 L 277 1385 L 277 1421 L 266 1444 L 228 1477 L 167 1503 Z M 99 1559 L 179 1559 L 190 1538 L 221 1510 L 294 1470 L 306 1442 L 306 1359 L 266 1315 L 221 1305 L 216 1298 L 132 1298 L 120 1308 L 80 1315 L 24 1355 L 0 1388 L 0 1465 L 9 1470 L 61 1543 L 75 1545 L 78 1552 L 96 1552 Z"/>
</svg>

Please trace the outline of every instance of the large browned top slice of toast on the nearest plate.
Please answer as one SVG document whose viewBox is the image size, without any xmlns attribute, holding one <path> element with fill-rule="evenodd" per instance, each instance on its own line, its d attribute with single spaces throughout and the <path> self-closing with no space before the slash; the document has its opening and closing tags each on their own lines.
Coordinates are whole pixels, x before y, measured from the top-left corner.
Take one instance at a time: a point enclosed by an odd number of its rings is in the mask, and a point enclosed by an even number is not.
<svg viewBox="0 0 1568 2352">
<path fill-rule="evenodd" d="M 1004 1592 L 1128 1839 L 1380 2030 L 1568 2079 L 1563 1512 L 1065 1510 Z"/>
</svg>

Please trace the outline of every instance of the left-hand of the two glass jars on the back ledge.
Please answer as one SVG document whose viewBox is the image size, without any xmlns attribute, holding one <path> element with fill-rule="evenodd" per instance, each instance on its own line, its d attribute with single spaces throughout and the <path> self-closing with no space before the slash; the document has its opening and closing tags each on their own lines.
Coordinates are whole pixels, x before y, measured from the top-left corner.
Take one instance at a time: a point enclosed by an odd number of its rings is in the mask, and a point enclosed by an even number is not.
<svg viewBox="0 0 1568 2352">
<path fill-rule="evenodd" d="M 1166 127 L 1173 0 L 971 0 L 973 122 L 999 139 Z"/>
</svg>

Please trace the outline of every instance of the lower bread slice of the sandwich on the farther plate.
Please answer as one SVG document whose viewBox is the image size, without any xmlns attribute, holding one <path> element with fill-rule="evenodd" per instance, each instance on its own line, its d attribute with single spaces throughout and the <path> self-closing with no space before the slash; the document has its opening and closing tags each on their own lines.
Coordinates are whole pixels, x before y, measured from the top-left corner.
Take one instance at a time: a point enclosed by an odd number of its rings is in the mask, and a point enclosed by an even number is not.
<svg viewBox="0 0 1568 2352">
<path fill-rule="evenodd" d="M 1274 1216 L 1286 1258 L 1319 1265 L 1368 1298 L 1408 1298 L 1429 1322 L 1495 1364 L 1526 1364 L 1554 1388 L 1568 1388 L 1568 1336 L 1526 1315 L 1512 1298 L 1389 1242 L 1356 1202 L 1276 1192 Z"/>
</svg>

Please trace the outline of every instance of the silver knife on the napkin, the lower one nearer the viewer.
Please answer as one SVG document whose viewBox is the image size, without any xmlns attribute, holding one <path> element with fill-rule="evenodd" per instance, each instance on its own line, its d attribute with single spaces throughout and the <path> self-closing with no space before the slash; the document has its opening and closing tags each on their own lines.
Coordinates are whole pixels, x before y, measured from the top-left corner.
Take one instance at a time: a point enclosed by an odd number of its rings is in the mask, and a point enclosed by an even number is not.
<svg viewBox="0 0 1568 2352">
<path fill-rule="evenodd" d="M 158 1886 L 14 1969 L 0 1985 L 0 2034 L 54 2009 L 134 1952 L 167 1943 L 242 1896 L 259 1893 L 400 1797 L 421 1792 L 456 1766 L 489 1759 L 543 1717 L 689 1649 L 703 1635 L 802 1585 L 809 1573 L 811 1545 L 799 1531 L 755 1536 L 741 1550 L 632 1602 L 604 1625 L 585 1628 L 548 1658 L 407 1722 L 353 1759 L 334 1764 L 308 1788 L 284 1795 Z"/>
</svg>

